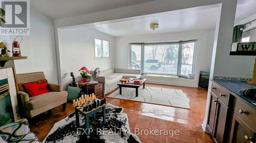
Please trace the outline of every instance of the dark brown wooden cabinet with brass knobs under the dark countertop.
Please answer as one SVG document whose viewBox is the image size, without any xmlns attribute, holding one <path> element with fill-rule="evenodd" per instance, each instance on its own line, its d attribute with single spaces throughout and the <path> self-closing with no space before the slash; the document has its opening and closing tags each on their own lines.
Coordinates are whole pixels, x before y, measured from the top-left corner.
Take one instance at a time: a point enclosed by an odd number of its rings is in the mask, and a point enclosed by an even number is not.
<svg viewBox="0 0 256 143">
<path fill-rule="evenodd" d="M 256 143 L 256 110 L 238 95 L 212 82 L 206 129 L 214 142 Z"/>
</svg>

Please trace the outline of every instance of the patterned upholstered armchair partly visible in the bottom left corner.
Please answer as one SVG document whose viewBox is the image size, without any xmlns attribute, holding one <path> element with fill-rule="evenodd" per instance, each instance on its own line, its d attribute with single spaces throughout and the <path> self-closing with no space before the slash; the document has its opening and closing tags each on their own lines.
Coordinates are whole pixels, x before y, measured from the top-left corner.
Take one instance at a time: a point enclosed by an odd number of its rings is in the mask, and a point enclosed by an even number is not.
<svg viewBox="0 0 256 143">
<path fill-rule="evenodd" d="M 27 119 L 0 127 L 0 137 L 3 142 L 40 142 L 35 134 L 30 132 Z"/>
</svg>

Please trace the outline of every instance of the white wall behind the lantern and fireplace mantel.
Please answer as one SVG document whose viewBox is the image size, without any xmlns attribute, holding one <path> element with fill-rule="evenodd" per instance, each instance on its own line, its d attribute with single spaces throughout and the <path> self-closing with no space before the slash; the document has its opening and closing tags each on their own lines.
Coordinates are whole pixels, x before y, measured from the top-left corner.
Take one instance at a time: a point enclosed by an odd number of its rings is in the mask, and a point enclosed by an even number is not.
<svg viewBox="0 0 256 143">
<path fill-rule="evenodd" d="M 0 41 L 5 39 L 11 51 L 11 42 L 15 37 L 1 36 Z M 19 40 L 20 38 L 17 38 L 17 41 Z M 31 7 L 30 35 L 23 36 L 20 50 L 22 56 L 28 56 L 28 59 L 15 60 L 17 74 L 43 71 L 50 83 L 57 83 L 53 19 Z M 12 56 L 11 52 L 10 55 Z"/>
</svg>

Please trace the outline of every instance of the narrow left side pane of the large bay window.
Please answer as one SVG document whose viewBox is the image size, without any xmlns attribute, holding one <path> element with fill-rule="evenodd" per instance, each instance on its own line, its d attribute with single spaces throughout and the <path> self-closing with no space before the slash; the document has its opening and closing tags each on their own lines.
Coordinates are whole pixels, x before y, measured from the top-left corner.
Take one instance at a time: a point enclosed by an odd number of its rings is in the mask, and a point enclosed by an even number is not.
<svg viewBox="0 0 256 143">
<path fill-rule="evenodd" d="M 140 69 L 141 45 L 131 45 L 131 69 Z"/>
</svg>

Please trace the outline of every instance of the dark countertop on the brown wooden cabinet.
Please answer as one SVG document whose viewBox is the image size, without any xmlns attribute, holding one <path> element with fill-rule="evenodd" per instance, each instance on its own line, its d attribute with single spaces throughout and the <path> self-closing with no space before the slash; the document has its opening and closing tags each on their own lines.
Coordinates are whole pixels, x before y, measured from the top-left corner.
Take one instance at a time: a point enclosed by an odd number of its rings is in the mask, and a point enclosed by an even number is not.
<svg viewBox="0 0 256 143">
<path fill-rule="evenodd" d="M 212 79 L 216 83 L 220 84 L 223 88 L 229 91 L 233 96 L 241 99 L 246 104 L 251 106 L 252 108 L 256 108 L 256 100 L 252 98 L 245 97 L 243 94 L 239 93 L 241 89 L 247 88 L 256 88 L 255 85 L 246 84 L 245 81 L 237 81 L 237 80 L 223 80 L 223 79 Z"/>
</svg>

